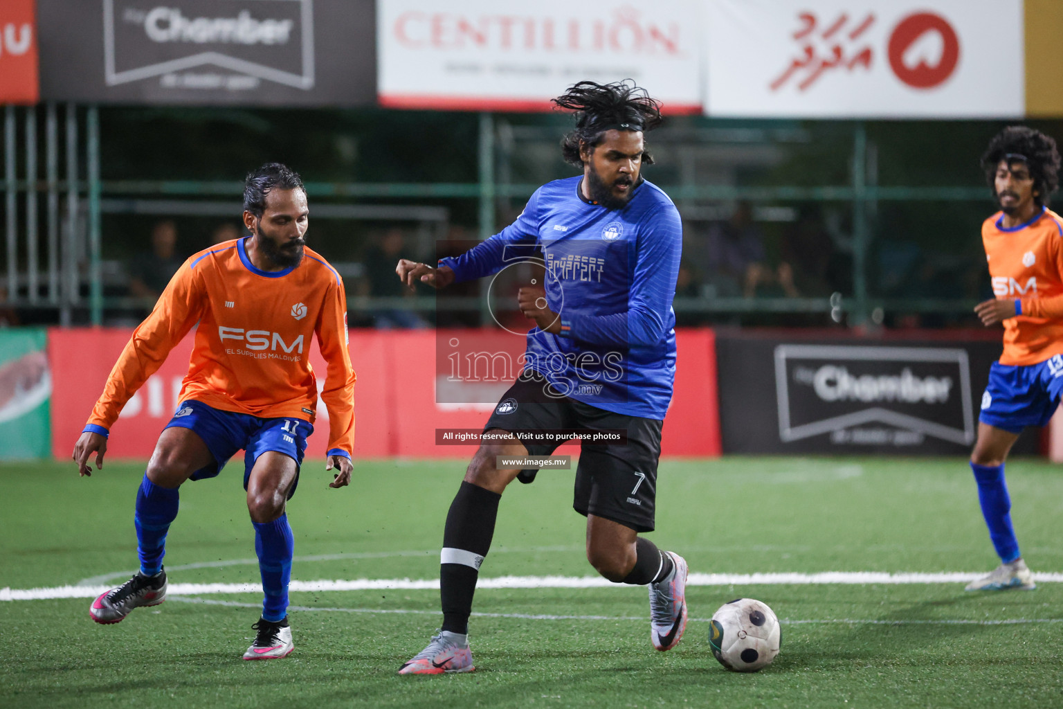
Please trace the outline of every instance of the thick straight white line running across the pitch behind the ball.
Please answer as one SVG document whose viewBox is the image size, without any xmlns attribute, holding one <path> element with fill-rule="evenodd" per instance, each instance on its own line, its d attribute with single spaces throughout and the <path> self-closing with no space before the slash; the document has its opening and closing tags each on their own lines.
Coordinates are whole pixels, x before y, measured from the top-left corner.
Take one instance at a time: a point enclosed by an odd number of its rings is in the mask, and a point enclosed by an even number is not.
<svg viewBox="0 0 1063 709">
<path fill-rule="evenodd" d="M 777 585 L 871 585 L 871 584 L 963 584 L 981 575 L 977 572 L 960 573 L 898 573 L 872 571 L 829 571 L 820 574 L 690 574 L 687 586 L 777 586 Z M 1061 573 L 1033 575 L 1040 583 L 1063 581 Z M 0 601 L 41 601 L 46 598 L 91 598 L 107 590 L 106 586 L 56 586 L 36 589 L 0 589 Z M 432 590 L 439 588 L 438 578 L 358 578 L 354 580 L 291 581 L 292 592 L 375 591 L 375 590 Z M 622 588 L 601 576 L 499 576 L 480 578 L 477 589 L 584 589 Z M 174 595 L 207 595 L 217 593 L 261 593 L 258 584 L 171 584 L 169 593 Z"/>
</svg>

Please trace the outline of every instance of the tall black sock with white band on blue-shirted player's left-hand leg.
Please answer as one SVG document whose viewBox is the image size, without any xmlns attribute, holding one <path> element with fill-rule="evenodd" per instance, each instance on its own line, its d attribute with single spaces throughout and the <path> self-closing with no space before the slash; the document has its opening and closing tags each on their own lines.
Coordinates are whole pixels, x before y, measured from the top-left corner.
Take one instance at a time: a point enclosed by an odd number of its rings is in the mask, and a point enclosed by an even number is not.
<svg viewBox="0 0 1063 709">
<path fill-rule="evenodd" d="M 500 500 L 502 495 L 497 492 L 462 480 L 451 503 L 439 564 L 443 630 L 469 632 L 472 595 L 476 591 L 479 564 L 491 547 Z"/>
</svg>

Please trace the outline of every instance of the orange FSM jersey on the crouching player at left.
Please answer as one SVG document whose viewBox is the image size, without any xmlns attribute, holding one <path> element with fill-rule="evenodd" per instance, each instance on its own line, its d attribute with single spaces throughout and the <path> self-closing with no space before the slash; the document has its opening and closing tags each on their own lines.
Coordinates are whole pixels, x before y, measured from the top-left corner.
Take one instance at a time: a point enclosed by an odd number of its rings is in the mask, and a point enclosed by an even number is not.
<svg viewBox="0 0 1063 709">
<path fill-rule="evenodd" d="M 243 239 L 189 257 L 133 333 L 88 423 L 109 429 L 197 322 L 180 401 L 314 423 L 318 388 L 309 350 L 317 335 L 327 362 L 321 400 L 328 409 L 328 453 L 351 455 L 355 374 L 348 352 L 347 296 L 332 266 L 304 249 L 300 265 L 284 271 L 256 268 Z"/>
</svg>

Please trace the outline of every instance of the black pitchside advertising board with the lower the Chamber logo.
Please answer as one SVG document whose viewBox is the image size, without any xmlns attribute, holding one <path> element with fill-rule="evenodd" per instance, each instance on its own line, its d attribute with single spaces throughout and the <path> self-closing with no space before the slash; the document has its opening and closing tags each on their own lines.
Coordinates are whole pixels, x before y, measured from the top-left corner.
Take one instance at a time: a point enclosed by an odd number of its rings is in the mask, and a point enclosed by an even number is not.
<svg viewBox="0 0 1063 709">
<path fill-rule="evenodd" d="M 716 352 L 724 453 L 962 456 L 1000 342 L 719 334 Z"/>
</svg>

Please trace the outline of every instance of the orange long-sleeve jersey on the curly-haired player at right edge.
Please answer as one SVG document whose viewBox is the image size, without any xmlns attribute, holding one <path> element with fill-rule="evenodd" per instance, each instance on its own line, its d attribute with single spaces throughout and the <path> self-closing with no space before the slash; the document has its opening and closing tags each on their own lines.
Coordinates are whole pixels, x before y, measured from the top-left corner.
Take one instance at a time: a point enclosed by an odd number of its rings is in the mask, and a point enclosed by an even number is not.
<svg viewBox="0 0 1063 709">
<path fill-rule="evenodd" d="M 1022 315 L 1003 321 L 1001 365 L 1036 365 L 1063 354 L 1063 219 L 1043 208 L 1006 229 L 1003 213 L 982 223 L 993 293 L 1018 300 Z"/>
</svg>

